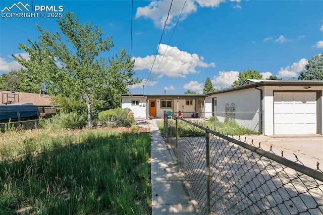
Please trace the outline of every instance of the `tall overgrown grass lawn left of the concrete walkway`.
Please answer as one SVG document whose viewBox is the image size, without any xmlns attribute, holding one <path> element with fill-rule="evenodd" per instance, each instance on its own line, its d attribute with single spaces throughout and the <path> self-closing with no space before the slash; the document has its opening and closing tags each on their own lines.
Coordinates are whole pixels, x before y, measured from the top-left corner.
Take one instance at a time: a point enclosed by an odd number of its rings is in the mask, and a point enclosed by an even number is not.
<svg viewBox="0 0 323 215">
<path fill-rule="evenodd" d="M 0 214 L 151 214 L 150 134 L 0 134 Z"/>
</svg>

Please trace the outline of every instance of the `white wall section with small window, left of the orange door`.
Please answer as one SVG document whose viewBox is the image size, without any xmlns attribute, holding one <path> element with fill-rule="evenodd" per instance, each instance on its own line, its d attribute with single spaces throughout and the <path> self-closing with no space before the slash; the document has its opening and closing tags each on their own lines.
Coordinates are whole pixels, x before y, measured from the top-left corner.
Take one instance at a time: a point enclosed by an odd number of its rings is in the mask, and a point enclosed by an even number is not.
<svg viewBox="0 0 323 215">
<path fill-rule="evenodd" d="M 139 100 L 139 105 L 132 105 L 132 100 Z M 122 97 L 121 108 L 129 108 L 134 114 L 134 118 L 147 118 L 147 102 L 143 96 Z"/>
</svg>

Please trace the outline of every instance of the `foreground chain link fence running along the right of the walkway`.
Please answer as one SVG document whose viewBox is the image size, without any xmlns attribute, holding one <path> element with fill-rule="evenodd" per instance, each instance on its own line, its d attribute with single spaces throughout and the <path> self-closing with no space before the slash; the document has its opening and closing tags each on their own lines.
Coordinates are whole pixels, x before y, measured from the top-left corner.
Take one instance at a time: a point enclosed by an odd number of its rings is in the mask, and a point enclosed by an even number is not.
<svg viewBox="0 0 323 215">
<path fill-rule="evenodd" d="M 323 172 L 201 122 L 164 118 L 172 146 L 203 214 L 322 214 Z"/>
</svg>

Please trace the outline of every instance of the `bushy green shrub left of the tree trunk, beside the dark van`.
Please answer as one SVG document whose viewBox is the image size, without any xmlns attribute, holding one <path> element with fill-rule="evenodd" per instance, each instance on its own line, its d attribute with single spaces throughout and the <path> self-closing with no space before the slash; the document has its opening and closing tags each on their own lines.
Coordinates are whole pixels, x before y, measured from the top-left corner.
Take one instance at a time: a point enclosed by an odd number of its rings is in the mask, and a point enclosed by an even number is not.
<svg viewBox="0 0 323 215">
<path fill-rule="evenodd" d="M 85 114 L 60 113 L 47 120 L 40 120 L 39 125 L 43 128 L 70 128 L 77 129 L 87 125 L 87 117 Z"/>
</svg>

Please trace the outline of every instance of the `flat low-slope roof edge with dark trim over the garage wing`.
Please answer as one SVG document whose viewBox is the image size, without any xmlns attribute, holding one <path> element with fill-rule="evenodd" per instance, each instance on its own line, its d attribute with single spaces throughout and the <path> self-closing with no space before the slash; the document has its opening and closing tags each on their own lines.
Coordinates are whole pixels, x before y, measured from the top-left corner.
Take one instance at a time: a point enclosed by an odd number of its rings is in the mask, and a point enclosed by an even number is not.
<svg viewBox="0 0 323 215">
<path fill-rule="evenodd" d="M 322 86 L 323 87 L 323 81 L 282 81 L 282 80 L 261 80 L 254 83 L 244 84 L 237 87 L 232 87 L 228 89 L 219 90 L 216 92 L 209 92 L 206 93 L 206 95 L 214 95 L 219 94 L 223 92 L 231 92 L 236 90 L 242 90 L 242 89 L 248 89 L 248 88 L 254 88 L 254 87 L 261 87 L 261 86 Z"/>
</svg>

